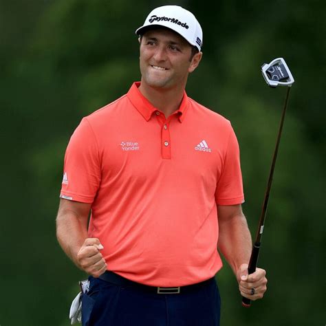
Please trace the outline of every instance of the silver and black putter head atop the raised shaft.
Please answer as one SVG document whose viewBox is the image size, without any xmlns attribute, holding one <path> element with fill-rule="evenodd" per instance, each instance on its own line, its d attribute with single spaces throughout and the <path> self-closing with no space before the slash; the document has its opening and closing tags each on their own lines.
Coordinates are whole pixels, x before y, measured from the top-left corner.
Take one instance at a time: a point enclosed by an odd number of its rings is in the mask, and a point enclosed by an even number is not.
<svg viewBox="0 0 326 326">
<path fill-rule="evenodd" d="M 271 63 L 264 63 L 261 66 L 261 72 L 270 87 L 278 85 L 291 87 L 294 83 L 294 78 L 283 58 L 276 58 Z"/>
</svg>

